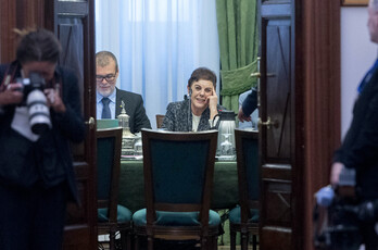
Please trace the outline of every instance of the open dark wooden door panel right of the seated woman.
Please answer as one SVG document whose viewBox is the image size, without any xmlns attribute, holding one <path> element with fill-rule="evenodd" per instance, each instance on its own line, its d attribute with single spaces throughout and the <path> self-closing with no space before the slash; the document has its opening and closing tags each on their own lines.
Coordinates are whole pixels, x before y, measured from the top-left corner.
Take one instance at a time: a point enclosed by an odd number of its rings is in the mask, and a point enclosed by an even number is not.
<svg viewBox="0 0 378 250">
<path fill-rule="evenodd" d="M 261 14 L 261 237 L 263 250 L 293 246 L 294 168 L 292 4 L 264 1 Z"/>
</svg>

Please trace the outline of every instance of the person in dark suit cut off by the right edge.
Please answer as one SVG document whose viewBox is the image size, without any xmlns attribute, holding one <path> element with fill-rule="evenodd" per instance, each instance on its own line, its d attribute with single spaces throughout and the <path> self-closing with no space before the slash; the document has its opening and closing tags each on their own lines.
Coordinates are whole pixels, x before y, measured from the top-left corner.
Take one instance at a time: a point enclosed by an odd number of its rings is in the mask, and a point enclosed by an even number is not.
<svg viewBox="0 0 378 250">
<path fill-rule="evenodd" d="M 378 0 L 368 7 L 370 40 L 378 43 Z M 353 120 L 342 146 L 335 153 L 330 183 L 339 184 L 344 167 L 356 172 L 356 191 L 362 204 L 378 203 L 378 60 L 367 72 L 358 87 L 358 98 L 353 109 Z M 378 208 L 376 208 L 377 210 Z M 367 250 L 378 249 L 377 217 L 362 220 L 361 233 Z"/>
</svg>

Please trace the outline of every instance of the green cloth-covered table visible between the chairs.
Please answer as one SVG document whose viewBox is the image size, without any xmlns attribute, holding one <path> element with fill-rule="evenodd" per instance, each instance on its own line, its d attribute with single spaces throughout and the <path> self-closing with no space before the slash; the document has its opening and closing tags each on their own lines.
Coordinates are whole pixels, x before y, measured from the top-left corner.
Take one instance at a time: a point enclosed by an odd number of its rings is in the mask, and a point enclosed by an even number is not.
<svg viewBox="0 0 378 250">
<path fill-rule="evenodd" d="M 214 210 L 231 209 L 238 202 L 237 163 L 216 161 L 211 208 Z M 146 208 L 143 161 L 121 161 L 118 203 L 131 212 Z"/>
</svg>

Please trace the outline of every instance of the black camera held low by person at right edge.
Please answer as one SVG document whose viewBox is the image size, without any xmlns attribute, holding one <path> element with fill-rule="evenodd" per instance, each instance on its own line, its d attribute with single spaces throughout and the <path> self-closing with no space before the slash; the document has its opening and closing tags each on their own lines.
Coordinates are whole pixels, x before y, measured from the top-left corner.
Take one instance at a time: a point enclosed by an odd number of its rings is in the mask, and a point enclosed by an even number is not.
<svg viewBox="0 0 378 250">
<path fill-rule="evenodd" d="M 378 200 L 361 202 L 355 171 L 343 168 L 337 187 L 315 195 L 314 246 L 316 249 L 356 250 L 362 245 L 361 225 L 378 221 Z"/>
</svg>

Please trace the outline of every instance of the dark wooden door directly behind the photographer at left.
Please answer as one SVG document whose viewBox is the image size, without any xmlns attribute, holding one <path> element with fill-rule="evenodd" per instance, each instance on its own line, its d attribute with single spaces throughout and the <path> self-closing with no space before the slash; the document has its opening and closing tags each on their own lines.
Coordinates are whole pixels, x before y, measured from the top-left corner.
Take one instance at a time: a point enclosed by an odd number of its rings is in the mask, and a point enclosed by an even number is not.
<svg viewBox="0 0 378 250">
<path fill-rule="evenodd" d="M 94 80 L 94 1 L 47 1 L 46 24 L 62 43 L 60 64 L 73 68 L 78 77 L 83 112 L 88 124 L 84 143 L 72 146 L 81 205 L 68 204 L 64 249 L 97 248 L 96 198 L 96 80 Z"/>
</svg>

